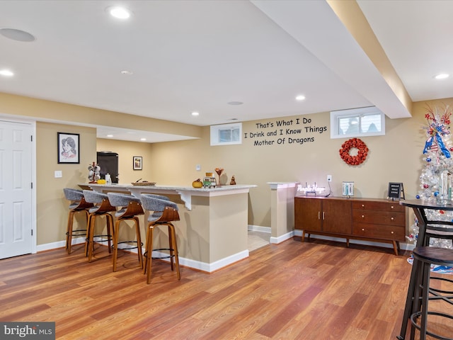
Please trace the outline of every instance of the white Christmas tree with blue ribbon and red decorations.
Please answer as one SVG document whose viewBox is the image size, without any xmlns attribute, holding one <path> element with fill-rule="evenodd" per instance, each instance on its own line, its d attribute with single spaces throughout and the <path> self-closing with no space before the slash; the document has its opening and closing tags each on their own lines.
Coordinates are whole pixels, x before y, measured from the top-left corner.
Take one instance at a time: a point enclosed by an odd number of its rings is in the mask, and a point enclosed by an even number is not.
<svg viewBox="0 0 453 340">
<path fill-rule="evenodd" d="M 453 182 L 453 142 L 450 131 L 452 108 L 444 106 L 430 108 L 428 106 L 425 118 L 427 125 L 423 128 L 427 135 L 423 149 L 422 174 L 420 175 L 420 191 L 416 198 L 441 204 L 452 204 Z M 428 220 L 452 221 L 453 211 L 425 210 Z M 415 243 L 418 236 L 417 220 L 411 226 L 409 241 Z M 431 246 L 452 249 L 452 240 L 430 239 Z"/>
</svg>

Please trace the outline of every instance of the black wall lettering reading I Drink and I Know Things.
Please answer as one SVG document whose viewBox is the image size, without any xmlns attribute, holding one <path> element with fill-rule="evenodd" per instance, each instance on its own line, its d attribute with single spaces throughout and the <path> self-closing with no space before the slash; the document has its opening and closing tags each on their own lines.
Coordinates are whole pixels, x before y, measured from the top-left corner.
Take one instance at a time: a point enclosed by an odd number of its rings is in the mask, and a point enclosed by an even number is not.
<svg viewBox="0 0 453 340">
<path fill-rule="evenodd" d="M 253 146 L 304 145 L 316 140 L 316 135 L 327 132 L 327 126 L 316 126 L 311 118 L 292 118 L 256 123 L 256 130 L 243 132 L 243 139 Z"/>
</svg>

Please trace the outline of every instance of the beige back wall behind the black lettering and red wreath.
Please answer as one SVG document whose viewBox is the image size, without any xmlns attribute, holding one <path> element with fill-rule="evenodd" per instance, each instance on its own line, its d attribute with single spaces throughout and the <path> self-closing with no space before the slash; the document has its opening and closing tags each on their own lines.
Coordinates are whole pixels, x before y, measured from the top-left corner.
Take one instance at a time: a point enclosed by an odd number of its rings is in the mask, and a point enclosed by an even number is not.
<svg viewBox="0 0 453 340">
<path fill-rule="evenodd" d="M 447 102 L 452 103 L 452 100 Z M 327 186 L 326 176 L 331 174 L 333 195 L 341 196 L 342 181 L 354 181 L 355 196 L 365 198 L 386 198 L 389 182 L 403 182 L 406 198 L 414 198 L 423 166 L 421 153 L 425 135 L 421 128 L 425 124 L 424 108 L 424 102 L 414 103 L 413 118 L 386 119 L 385 136 L 362 137 L 370 151 L 366 162 L 360 166 L 349 166 L 340 159 L 338 150 L 346 139 L 331 140 L 330 130 L 302 134 L 300 137 L 314 137 L 314 142 L 303 145 L 289 145 L 286 140 L 285 145 L 276 145 L 275 142 L 274 145 L 258 147 L 253 146 L 254 140 L 248 139 L 243 140 L 242 145 L 210 147 L 210 128 L 205 127 L 201 140 L 151 146 L 155 161 L 151 165 L 152 172 L 156 175 L 154 180 L 158 183 L 189 185 L 193 179 L 202 177 L 205 171 L 222 167 L 229 179 L 231 175 L 236 176 L 236 183 L 258 186 L 250 192 L 248 223 L 265 227 L 270 227 L 270 190 L 266 184 L 270 181 L 316 182 L 319 186 Z M 330 125 L 329 113 L 293 116 L 285 120 L 297 118 L 311 119 L 311 124 L 302 124 L 302 128 L 308 125 Z M 256 124 L 276 121 L 245 122 L 243 131 L 271 132 L 275 128 L 257 129 Z M 195 164 L 201 164 L 202 171 L 195 171 Z"/>
</svg>

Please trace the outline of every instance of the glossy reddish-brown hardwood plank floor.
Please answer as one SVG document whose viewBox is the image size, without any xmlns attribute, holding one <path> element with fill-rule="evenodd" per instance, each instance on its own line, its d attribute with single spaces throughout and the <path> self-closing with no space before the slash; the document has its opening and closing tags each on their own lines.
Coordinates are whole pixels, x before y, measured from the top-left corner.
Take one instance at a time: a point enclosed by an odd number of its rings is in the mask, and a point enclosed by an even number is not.
<svg viewBox="0 0 453 340">
<path fill-rule="evenodd" d="M 0 320 L 56 322 L 57 339 L 77 340 L 396 339 L 411 271 L 392 249 L 296 237 L 180 281 L 153 261 L 147 285 L 136 254 L 113 273 L 105 247 L 92 263 L 74 250 L 1 260 Z"/>
</svg>

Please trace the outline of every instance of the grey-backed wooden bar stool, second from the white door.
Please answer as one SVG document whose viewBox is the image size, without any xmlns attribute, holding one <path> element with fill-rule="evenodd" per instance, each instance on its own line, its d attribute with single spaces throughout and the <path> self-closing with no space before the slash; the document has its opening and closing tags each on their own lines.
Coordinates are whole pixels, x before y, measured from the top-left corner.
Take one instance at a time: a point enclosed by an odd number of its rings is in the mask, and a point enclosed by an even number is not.
<svg viewBox="0 0 453 340">
<path fill-rule="evenodd" d="M 88 203 L 93 203 L 95 206 L 88 210 L 88 231 L 86 237 L 85 253 L 88 255 L 88 262 L 91 262 L 93 256 L 94 237 L 107 237 L 107 239 L 96 240 L 96 242 L 108 242 L 108 252 L 111 253 L 111 239 L 113 234 L 113 217 L 110 212 L 116 211 L 115 207 L 110 204 L 106 193 L 98 193 L 96 191 L 84 190 L 84 197 Z M 107 226 L 106 235 L 95 235 L 96 217 L 105 216 Z"/>
</svg>

